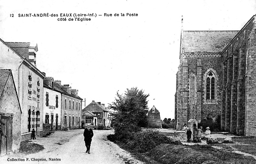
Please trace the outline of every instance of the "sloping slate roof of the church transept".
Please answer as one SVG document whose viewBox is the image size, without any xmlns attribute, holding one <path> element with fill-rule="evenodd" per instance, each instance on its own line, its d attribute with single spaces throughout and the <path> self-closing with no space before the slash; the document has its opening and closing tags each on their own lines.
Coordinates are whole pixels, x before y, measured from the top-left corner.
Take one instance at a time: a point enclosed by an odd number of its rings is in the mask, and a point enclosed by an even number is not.
<svg viewBox="0 0 256 164">
<path fill-rule="evenodd" d="M 220 53 L 239 31 L 183 31 L 184 52 Z"/>
</svg>

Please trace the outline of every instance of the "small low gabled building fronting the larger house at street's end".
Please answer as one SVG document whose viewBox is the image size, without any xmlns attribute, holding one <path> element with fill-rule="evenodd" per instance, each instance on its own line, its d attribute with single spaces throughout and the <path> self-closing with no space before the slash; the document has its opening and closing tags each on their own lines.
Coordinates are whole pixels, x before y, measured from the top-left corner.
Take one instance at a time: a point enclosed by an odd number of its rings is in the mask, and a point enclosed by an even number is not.
<svg viewBox="0 0 256 164">
<path fill-rule="evenodd" d="M 90 123 L 93 128 L 98 125 L 98 116 L 85 109 L 82 110 L 82 120 L 84 120 L 84 123 L 82 123 L 82 128 L 84 128 L 88 123 Z"/>
</svg>

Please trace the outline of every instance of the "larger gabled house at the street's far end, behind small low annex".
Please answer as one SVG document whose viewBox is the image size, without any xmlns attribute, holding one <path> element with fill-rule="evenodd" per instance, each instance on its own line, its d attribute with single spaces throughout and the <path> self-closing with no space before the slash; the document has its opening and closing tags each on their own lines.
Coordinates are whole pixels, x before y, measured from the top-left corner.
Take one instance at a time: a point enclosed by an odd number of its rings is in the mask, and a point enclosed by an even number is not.
<svg viewBox="0 0 256 164">
<path fill-rule="evenodd" d="M 92 101 L 91 104 L 87 105 L 83 110 L 91 111 L 93 114 L 98 116 L 97 125 L 107 127 L 108 124 L 108 109 L 100 102 L 96 103 Z"/>
</svg>

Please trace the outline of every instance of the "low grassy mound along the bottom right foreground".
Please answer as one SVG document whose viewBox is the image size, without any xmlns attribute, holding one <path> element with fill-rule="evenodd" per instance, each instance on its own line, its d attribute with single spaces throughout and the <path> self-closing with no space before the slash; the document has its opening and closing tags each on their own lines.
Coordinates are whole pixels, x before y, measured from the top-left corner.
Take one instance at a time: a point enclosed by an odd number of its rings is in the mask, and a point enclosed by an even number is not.
<svg viewBox="0 0 256 164">
<path fill-rule="evenodd" d="M 146 153 L 146 155 L 153 160 L 166 164 L 201 164 L 207 160 L 213 160 L 220 164 L 256 163 L 254 158 L 244 158 L 240 154 L 223 152 L 209 145 L 160 144 Z"/>
</svg>

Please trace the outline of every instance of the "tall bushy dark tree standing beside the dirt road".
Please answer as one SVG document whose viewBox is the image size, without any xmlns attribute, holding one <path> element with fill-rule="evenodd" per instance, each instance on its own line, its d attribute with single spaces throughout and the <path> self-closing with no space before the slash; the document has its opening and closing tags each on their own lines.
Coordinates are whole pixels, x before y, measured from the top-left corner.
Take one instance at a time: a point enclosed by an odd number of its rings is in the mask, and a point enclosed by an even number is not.
<svg viewBox="0 0 256 164">
<path fill-rule="evenodd" d="M 109 108 L 115 110 L 113 128 L 117 140 L 127 140 L 133 132 L 140 131 L 140 127 L 147 126 L 148 96 L 143 90 L 127 89 L 124 95 L 117 91 L 117 98 Z"/>
</svg>

